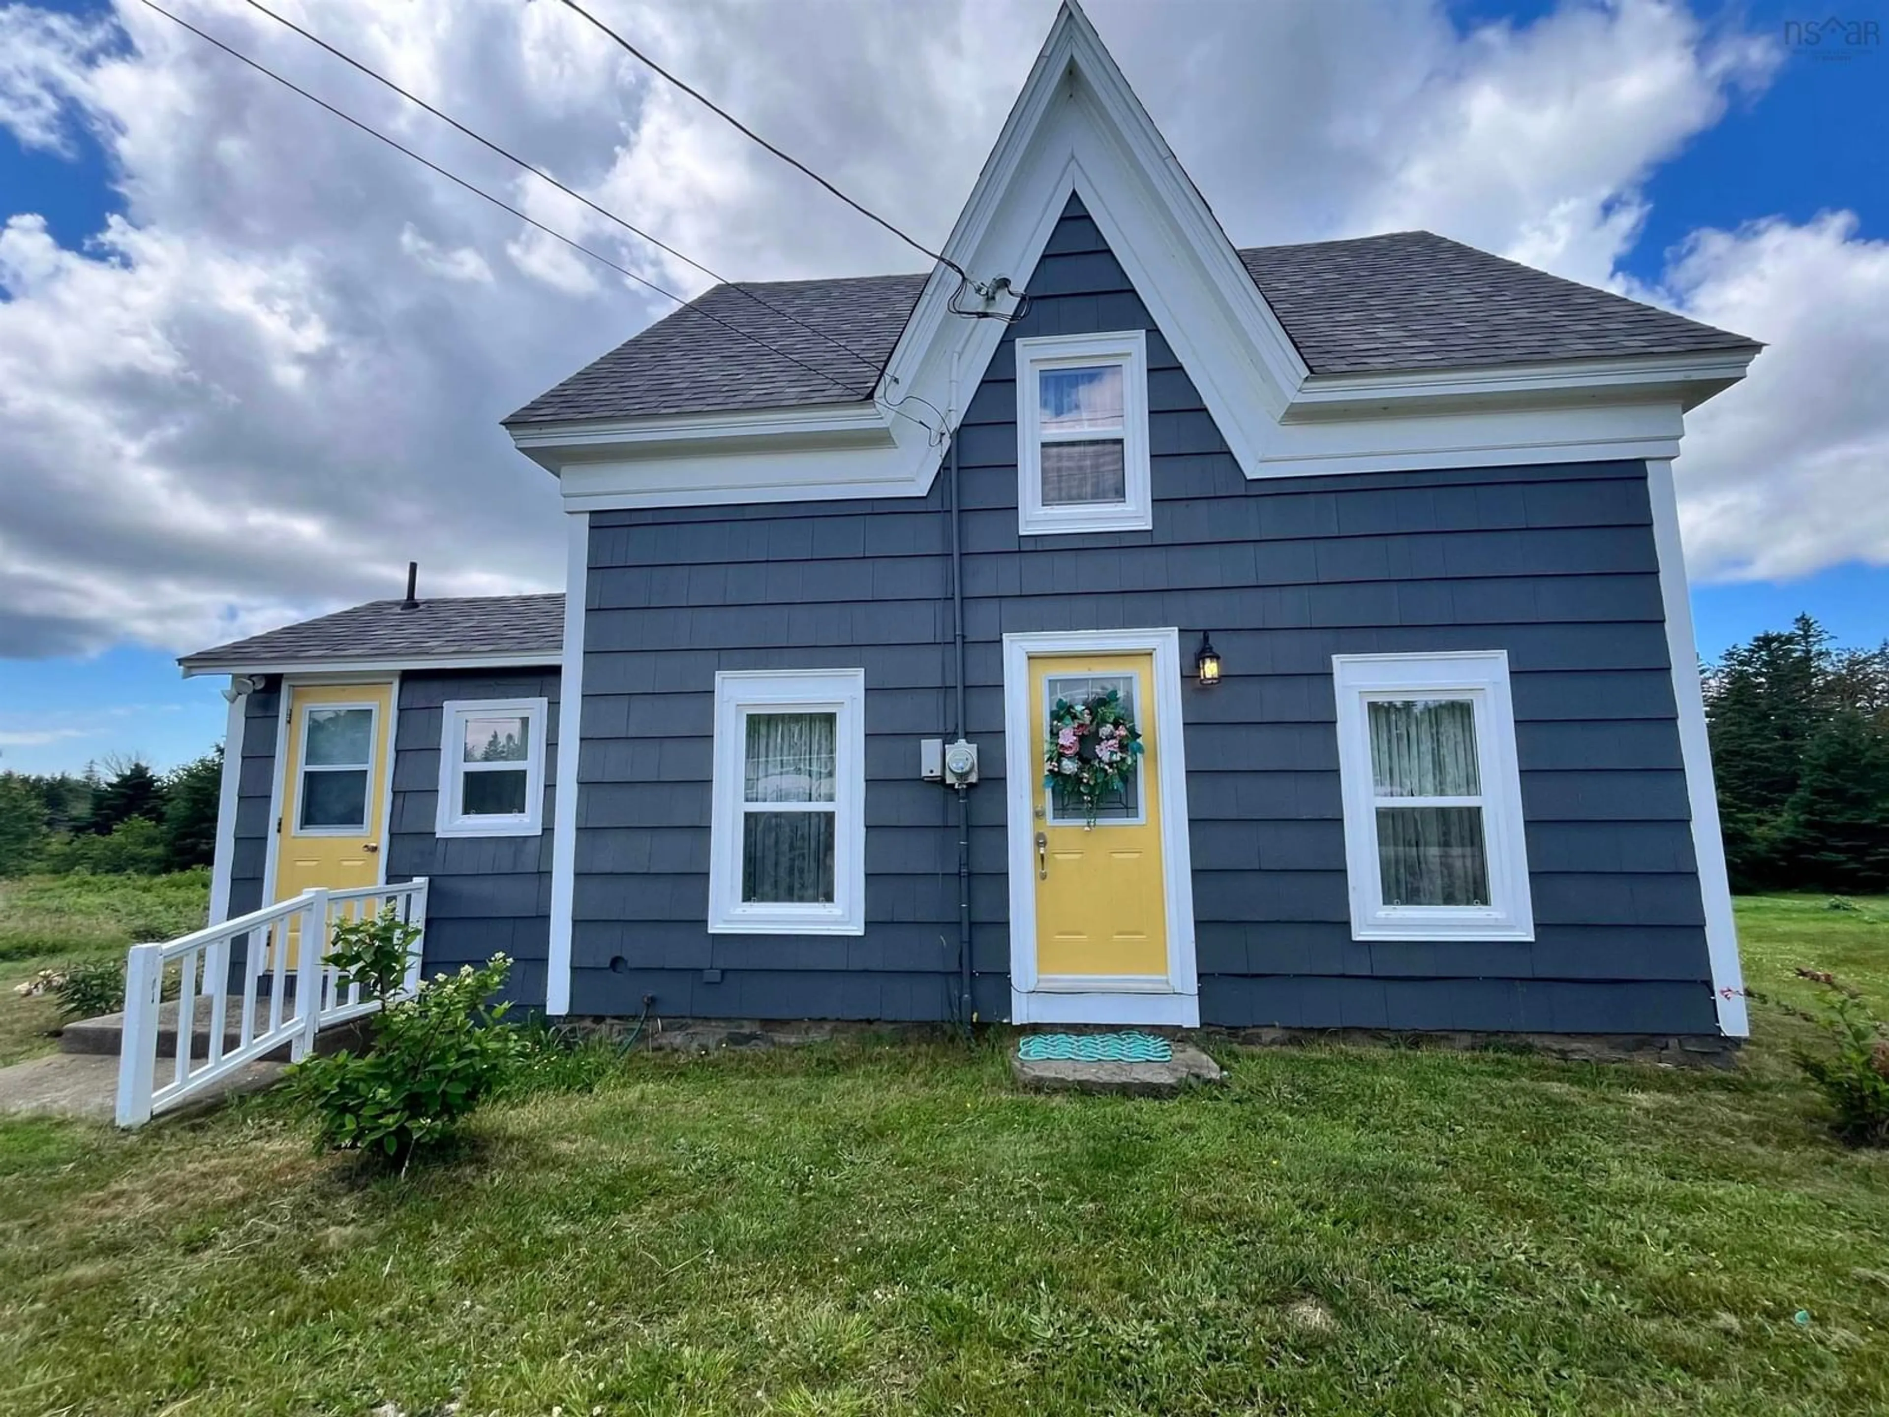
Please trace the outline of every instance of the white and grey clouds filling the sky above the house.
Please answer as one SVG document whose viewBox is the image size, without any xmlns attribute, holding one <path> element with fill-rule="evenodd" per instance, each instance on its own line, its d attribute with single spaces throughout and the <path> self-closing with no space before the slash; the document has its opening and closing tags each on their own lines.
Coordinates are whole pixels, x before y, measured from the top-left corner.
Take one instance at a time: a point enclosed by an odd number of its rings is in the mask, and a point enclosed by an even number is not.
<svg viewBox="0 0 1889 1417">
<path fill-rule="evenodd" d="M 922 265 L 561 6 L 283 4 L 727 276 Z M 185 11 L 648 280 L 705 283 L 255 11 Z M 1439 0 L 1090 11 L 1237 240 L 1421 225 L 1592 282 L 1617 282 L 1649 174 L 1774 62 L 1653 0 L 1473 34 Z M 941 242 L 1054 4 L 601 13 Z M 433 593 L 555 586 L 555 487 L 497 419 L 667 302 L 144 6 L 117 21 L 0 8 L 0 125 L 51 151 L 85 125 L 125 204 L 72 249 L 0 195 L 0 656 L 200 648 L 397 593 L 410 557 Z M 1679 465 L 1715 574 L 1883 554 L 1889 531 L 1847 508 L 1793 521 L 1789 552 L 1764 546 L 1779 506 L 1851 486 L 1881 448 L 1889 414 L 1864 399 L 1842 418 L 1806 402 L 1844 382 L 1842 359 L 1881 367 L 1880 270 L 1840 225 L 1770 225 L 1702 236 L 1666 282 L 1774 346 L 1747 389 L 1700 410 Z M 1832 338 L 1838 306 L 1853 317 Z"/>
</svg>

